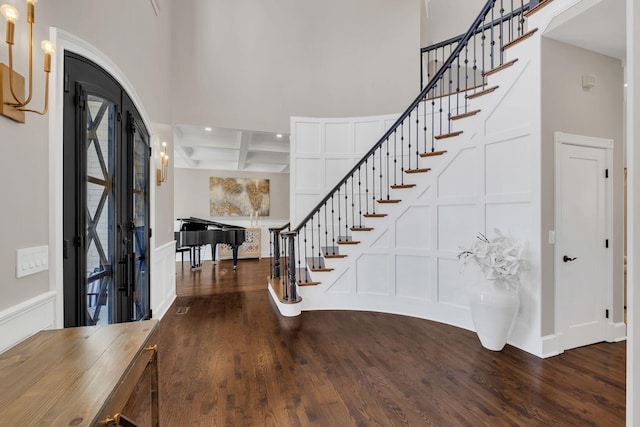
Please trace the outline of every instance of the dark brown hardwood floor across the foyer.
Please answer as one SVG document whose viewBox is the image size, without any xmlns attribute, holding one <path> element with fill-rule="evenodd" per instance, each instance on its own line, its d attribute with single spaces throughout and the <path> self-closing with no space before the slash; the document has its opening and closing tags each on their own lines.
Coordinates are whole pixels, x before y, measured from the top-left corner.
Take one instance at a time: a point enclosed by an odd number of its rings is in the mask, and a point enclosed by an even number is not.
<svg viewBox="0 0 640 427">
<path fill-rule="evenodd" d="M 282 318 L 269 261 L 177 265 L 158 332 L 162 426 L 623 426 L 625 343 L 539 359 L 390 314 Z M 188 307 L 186 314 L 176 314 Z M 148 383 L 125 414 L 149 420 Z"/>
</svg>

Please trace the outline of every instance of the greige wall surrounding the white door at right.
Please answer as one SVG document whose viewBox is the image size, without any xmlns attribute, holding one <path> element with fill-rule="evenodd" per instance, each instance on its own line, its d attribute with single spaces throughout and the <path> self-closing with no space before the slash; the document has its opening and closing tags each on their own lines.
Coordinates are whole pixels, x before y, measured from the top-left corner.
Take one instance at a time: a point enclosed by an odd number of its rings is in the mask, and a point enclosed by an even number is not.
<svg viewBox="0 0 640 427">
<path fill-rule="evenodd" d="M 547 243 L 554 230 L 553 132 L 612 139 L 614 188 L 613 321 L 624 321 L 623 304 L 623 68 L 620 60 L 543 37 L 542 42 L 542 298 L 543 335 L 553 334 L 554 246 Z M 582 88 L 582 76 L 596 76 L 596 86 Z"/>
</svg>

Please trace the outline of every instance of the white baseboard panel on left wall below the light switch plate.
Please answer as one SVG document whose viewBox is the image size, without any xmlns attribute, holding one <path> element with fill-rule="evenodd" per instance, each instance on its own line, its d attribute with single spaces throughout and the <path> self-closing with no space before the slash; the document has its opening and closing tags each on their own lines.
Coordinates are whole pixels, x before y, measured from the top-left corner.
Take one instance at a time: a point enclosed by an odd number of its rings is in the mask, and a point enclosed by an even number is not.
<svg viewBox="0 0 640 427">
<path fill-rule="evenodd" d="M 53 291 L 0 311 L 0 353 L 38 331 L 55 328 L 55 314 Z"/>
</svg>

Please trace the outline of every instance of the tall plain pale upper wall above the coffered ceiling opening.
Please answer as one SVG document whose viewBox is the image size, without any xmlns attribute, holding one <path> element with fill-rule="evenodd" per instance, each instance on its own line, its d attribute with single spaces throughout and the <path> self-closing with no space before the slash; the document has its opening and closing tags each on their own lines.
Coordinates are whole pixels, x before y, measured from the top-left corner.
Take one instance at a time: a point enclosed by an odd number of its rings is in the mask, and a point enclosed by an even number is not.
<svg viewBox="0 0 640 427">
<path fill-rule="evenodd" d="M 294 115 L 401 111 L 420 84 L 421 1 L 177 7 L 174 122 L 285 133 Z"/>
</svg>

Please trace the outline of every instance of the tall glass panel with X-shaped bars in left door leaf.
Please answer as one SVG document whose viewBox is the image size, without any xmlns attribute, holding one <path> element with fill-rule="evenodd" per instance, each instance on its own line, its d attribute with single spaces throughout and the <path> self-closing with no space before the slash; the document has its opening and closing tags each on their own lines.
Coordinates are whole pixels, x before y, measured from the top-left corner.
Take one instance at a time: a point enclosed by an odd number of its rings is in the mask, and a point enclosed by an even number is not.
<svg viewBox="0 0 640 427">
<path fill-rule="evenodd" d="M 87 325 L 113 323 L 115 105 L 87 98 Z"/>
</svg>

